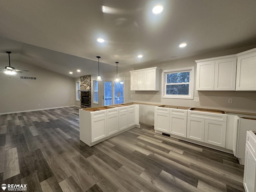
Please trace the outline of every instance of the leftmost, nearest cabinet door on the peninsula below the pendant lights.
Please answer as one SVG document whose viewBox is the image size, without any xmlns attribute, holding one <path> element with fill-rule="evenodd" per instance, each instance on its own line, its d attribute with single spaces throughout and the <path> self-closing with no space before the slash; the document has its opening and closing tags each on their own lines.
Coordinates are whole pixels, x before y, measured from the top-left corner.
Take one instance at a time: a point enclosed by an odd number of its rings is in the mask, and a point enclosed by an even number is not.
<svg viewBox="0 0 256 192">
<path fill-rule="evenodd" d="M 92 119 L 92 142 L 107 136 L 107 120 L 105 117 Z"/>
</svg>

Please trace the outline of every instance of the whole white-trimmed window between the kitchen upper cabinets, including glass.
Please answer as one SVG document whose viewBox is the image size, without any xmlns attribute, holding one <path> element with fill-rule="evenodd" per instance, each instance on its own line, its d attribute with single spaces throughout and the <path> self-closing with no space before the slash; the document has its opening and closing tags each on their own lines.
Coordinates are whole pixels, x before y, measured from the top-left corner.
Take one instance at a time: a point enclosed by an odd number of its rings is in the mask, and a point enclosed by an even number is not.
<svg viewBox="0 0 256 192">
<path fill-rule="evenodd" d="M 162 98 L 193 99 L 194 67 L 164 70 Z"/>
</svg>

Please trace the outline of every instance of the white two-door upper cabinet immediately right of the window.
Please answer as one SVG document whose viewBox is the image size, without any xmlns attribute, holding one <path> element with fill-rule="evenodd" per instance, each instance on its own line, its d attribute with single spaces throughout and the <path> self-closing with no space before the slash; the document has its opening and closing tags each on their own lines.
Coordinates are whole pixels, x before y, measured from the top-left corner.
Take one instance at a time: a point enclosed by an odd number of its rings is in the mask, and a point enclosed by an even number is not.
<svg viewBox="0 0 256 192">
<path fill-rule="evenodd" d="M 196 60 L 196 90 L 235 90 L 236 55 Z"/>
</svg>

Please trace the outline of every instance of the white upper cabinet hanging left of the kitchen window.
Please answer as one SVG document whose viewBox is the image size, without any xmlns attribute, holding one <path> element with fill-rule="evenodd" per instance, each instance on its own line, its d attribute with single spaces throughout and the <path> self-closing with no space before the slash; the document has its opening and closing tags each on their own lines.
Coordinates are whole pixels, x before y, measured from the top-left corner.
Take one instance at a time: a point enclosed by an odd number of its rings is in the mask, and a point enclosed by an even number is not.
<svg viewBox="0 0 256 192">
<path fill-rule="evenodd" d="M 131 90 L 159 91 L 160 68 L 152 67 L 130 71 Z"/>
</svg>

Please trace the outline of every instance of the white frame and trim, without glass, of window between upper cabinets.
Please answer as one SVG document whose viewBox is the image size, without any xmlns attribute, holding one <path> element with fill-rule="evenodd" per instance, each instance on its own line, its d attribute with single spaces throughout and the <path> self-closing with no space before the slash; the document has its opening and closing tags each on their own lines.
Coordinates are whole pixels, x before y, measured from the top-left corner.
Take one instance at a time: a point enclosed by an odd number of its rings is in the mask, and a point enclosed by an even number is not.
<svg viewBox="0 0 256 192">
<path fill-rule="evenodd" d="M 190 72 L 188 83 L 176 83 L 176 84 L 189 84 L 189 90 L 188 90 L 189 94 L 188 95 L 167 95 L 166 94 L 167 74 L 179 73 L 179 72 Z M 186 68 L 179 68 L 179 69 L 163 70 L 163 72 L 162 72 L 162 98 L 194 99 L 194 66 L 186 67 Z"/>
</svg>

